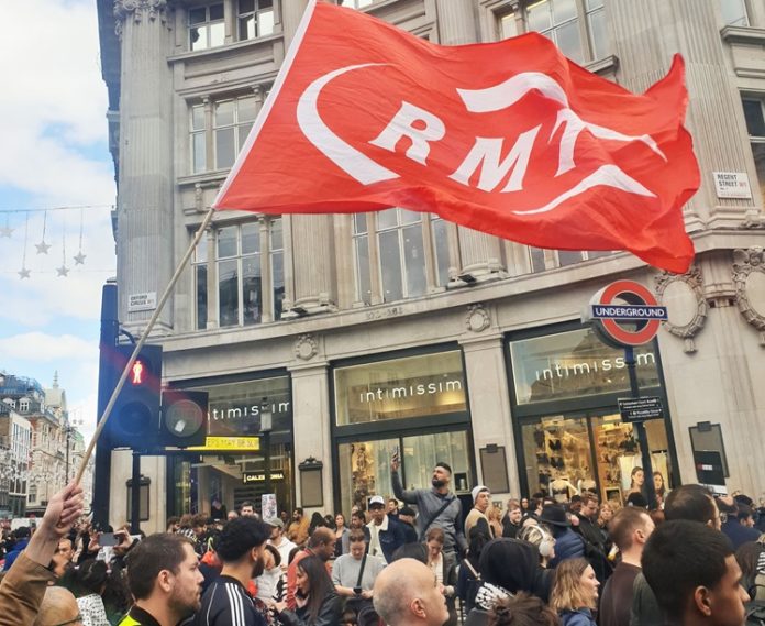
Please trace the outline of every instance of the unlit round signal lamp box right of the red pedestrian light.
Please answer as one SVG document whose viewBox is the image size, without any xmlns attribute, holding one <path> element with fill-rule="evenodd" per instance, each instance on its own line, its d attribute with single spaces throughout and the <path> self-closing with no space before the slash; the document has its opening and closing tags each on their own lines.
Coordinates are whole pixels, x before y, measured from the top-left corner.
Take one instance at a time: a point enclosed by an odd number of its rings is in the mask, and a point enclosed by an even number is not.
<svg viewBox="0 0 765 626">
<path fill-rule="evenodd" d="M 187 392 L 184 389 L 163 392 L 159 446 L 162 448 L 204 446 L 207 417 L 207 392 Z"/>
</svg>

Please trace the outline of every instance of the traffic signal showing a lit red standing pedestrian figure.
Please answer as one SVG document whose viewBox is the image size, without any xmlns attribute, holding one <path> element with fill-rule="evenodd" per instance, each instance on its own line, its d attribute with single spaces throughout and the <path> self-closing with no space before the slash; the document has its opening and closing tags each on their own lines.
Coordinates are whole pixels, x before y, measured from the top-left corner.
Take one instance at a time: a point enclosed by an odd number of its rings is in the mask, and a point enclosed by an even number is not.
<svg viewBox="0 0 765 626">
<path fill-rule="evenodd" d="M 133 350 L 133 345 L 118 345 L 114 349 L 114 385 L 130 361 Z M 162 345 L 144 345 L 130 369 L 107 422 L 106 429 L 112 448 L 149 450 L 156 447 L 160 388 Z"/>
</svg>

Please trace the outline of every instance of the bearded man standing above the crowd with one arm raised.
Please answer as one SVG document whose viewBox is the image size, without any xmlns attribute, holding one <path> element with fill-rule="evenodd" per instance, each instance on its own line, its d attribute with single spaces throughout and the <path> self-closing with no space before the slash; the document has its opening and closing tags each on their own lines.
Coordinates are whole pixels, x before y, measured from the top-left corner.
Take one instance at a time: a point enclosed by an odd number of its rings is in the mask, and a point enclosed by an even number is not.
<svg viewBox="0 0 765 626">
<path fill-rule="evenodd" d="M 445 535 L 444 553 L 452 554 L 456 551 L 464 553 L 467 550 L 467 540 L 461 528 L 462 503 L 456 495 L 450 492 L 452 482 L 452 468 L 447 463 L 436 463 L 433 469 L 432 488 L 404 491 L 401 477 L 398 473 L 399 458 L 393 453 L 390 461 L 390 477 L 393 484 L 396 497 L 407 504 L 417 504 L 420 514 L 417 517 L 417 530 L 420 541 L 425 540 L 428 530 L 435 526 Z"/>
</svg>

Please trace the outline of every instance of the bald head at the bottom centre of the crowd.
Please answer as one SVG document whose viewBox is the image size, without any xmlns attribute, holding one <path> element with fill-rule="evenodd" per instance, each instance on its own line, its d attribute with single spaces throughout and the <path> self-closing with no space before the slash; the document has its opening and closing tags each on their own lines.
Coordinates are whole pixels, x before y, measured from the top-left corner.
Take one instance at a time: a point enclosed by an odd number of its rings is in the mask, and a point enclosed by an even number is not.
<svg viewBox="0 0 765 626">
<path fill-rule="evenodd" d="M 414 559 L 400 559 L 375 581 L 375 609 L 389 626 L 442 626 L 446 602 L 431 569 Z"/>
</svg>

